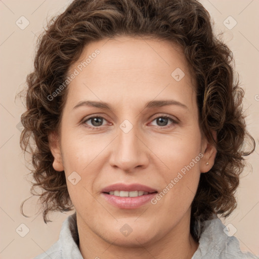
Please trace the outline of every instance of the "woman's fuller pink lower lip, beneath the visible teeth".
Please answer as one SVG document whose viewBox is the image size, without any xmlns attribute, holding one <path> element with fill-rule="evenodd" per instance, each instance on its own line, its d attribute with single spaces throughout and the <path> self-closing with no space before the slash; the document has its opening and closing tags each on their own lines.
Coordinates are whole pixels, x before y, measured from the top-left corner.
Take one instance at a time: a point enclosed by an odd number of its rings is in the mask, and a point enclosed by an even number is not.
<svg viewBox="0 0 259 259">
<path fill-rule="evenodd" d="M 149 193 L 147 195 L 137 196 L 137 197 L 120 197 L 115 195 L 110 195 L 107 193 L 102 193 L 103 197 L 112 205 L 118 208 L 139 208 L 149 202 L 152 198 L 157 195 L 155 193 Z"/>
</svg>

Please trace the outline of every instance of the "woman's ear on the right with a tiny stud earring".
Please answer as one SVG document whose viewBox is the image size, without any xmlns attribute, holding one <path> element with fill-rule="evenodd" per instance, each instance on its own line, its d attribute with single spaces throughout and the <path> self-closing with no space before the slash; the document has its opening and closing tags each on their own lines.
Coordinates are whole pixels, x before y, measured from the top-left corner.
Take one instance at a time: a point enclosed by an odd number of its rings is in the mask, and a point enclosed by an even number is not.
<svg viewBox="0 0 259 259">
<path fill-rule="evenodd" d="M 217 133 L 215 131 L 212 131 L 212 136 L 214 140 L 217 142 Z M 200 172 L 207 172 L 209 171 L 215 161 L 215 157 L 217 154 L 216 147 L 209 143 L 208 140 L 204 137 L 202 140 L 202 150 L 201 150 L 203 157 L 201 158 L 200 162 Z"/>
</svg>

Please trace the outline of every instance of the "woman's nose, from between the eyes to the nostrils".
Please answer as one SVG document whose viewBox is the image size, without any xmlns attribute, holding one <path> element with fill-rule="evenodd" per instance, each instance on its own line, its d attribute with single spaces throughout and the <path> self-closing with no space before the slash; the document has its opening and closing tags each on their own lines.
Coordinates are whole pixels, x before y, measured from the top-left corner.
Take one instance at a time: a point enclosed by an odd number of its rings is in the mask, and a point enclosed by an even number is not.
<svg viewBox="0 0 259 259">
<path fill-rule="evenodd" d="M 142 140 L 142 136 L 137 126 L 133 126 L 128 133 L 118 128 L 118 136 L 113 141 L 110 165 L 125 172 L 133 172 L 136 167 L 147 167 L 149 149 Z"/>
</svg>

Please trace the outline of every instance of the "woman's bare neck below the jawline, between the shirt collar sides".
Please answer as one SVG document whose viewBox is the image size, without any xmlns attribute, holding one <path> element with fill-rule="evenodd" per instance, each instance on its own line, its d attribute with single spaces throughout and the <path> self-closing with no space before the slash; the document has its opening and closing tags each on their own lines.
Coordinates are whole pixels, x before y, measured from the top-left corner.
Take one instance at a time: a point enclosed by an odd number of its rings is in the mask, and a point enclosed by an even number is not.
<svg viewBox="0 0 259 259">
<path fill-rule="evenodd" d="M 189 216 L 189 215 L 187 215 Z M 186 216 L 185 216 L 186 217 Z M 150 259 L 150 258 L 182 258 L 191 259 L 199 243 L 190 234 L 190 217 L 185 218 L 161 238 L 147 243 L 140 240 L 135 245 L 120 245 L 113 241 L 104 240 L 94 233 L 77 214 L 79 234 L 79 250 L 84 259 Z"/>
</svg>

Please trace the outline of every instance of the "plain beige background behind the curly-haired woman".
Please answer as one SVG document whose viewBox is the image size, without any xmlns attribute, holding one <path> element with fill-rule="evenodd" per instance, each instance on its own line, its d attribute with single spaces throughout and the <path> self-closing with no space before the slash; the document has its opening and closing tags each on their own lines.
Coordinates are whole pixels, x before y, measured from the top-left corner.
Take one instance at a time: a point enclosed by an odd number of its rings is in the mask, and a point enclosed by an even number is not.
<svg viewBox="0 0 259 259">
<path fill-rule="evenodd" d="M 70 1 L 71 2 L 71 1 Z M 19 121 L 24 108 L 19 100 L 15 102 L 16 93 L 25 85 L 25 77 L 32 69 L 35 42 L 37 35 L 46 25 L 46 18 L 65 10 L 67 0 L 3 0 L 0 1 L 0 55 L 1 55 L 1 203 L 0 203 L 0 258 L 29 259 L 46 251 L 58 240 L 62 222 L 68 214 L 54 213 L 53 223 L 46 225 L 41 215 L 37 215 L 37 198 L 29 199 L 24 212 L 31 218 L 24 218 L 20 213 L 21 202 L 30 196 L 30 184 L 25 177 L 28 169 L 19 147 Z M 246 91 L 244 107 L 247 113 L 248 130 L 259 144 L 259 1 L 213 1 L 202 0 L 215 22 L 215 30 L 224 32 L 224 38 L 232 49 L 236 69 L 240 74 L 243 88 Z M 20 29 L 16 21 L 24 16 L 29 25 Z M 228 29 L 224 25 L 227 17 L 232 16 L 237 25 Z M 230 19 L 230 20 L 229 20 Z M 19 20 L 18 20 L 19 21 Z M 228 26 L 234 20 L 226 20 Z M 25 24 L 25 23 L 23 23 Z M 18 124 L 18 125 L 17 125 Z M 259 149 L 247 158 L 251 166 L 243 173 L 238 188 L 238 208 L 233 212 L 225 225 L 240 242 L 242 250 L 259 255 Z M 16 229 L 25 224 L 29 230 L 21 237 Z M 23 231 L 26 227 L 22 226 Z M 20 232 L 21 233 L 21 232 Z"/>
</svg>

